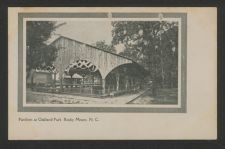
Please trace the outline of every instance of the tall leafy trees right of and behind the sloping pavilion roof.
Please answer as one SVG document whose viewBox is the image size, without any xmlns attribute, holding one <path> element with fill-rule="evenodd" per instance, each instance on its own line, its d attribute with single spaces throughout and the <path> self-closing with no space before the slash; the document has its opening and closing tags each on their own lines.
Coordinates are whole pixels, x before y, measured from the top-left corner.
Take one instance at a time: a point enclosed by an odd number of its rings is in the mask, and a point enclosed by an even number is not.
<svg viewBox="0 0 225 149">
<path fill-rule="evenodd" d="M 153 86 L 177 80 L 178 25 L 168 21 L 115 21 L 112 44 L 124 44 L 121 55 L 128 56 L 149 70 Z"/>
</svg>

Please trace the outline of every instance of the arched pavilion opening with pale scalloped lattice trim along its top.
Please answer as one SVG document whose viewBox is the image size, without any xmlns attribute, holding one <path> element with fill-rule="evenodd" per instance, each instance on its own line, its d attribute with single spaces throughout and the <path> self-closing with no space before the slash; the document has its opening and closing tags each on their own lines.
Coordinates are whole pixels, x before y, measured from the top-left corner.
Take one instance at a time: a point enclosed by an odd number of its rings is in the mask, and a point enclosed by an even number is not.
<svg viewBox="0 0 225 149">
<path fill-rule="evenodd" d="M 76 60 L 64 70 L 64 92 L 85 95 L 101 94 L 102 79 L 99 69 L 88 60 Z"/>
</svg>

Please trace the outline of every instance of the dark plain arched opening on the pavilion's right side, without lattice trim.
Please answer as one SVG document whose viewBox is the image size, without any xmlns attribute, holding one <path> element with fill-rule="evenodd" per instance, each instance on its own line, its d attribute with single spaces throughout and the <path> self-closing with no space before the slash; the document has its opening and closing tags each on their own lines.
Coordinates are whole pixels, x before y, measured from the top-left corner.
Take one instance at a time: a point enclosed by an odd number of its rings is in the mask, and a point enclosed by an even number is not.
<svg viewBox="0 0 225 149">
<path fill-rule="evenodd" d="M 137 63 L 123 64 L 106 76 L 106 93 L 135 93 L 145 86 L 148 72 Z"/>
</svg>

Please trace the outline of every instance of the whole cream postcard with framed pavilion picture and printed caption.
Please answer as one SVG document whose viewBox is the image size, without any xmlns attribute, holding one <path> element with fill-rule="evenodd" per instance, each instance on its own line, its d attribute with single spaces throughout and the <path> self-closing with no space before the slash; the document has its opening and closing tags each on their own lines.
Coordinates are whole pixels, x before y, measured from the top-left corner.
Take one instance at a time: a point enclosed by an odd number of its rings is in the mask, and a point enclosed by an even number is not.
<svg viewBox="0 0 225 149">
<path fill-rule="evenodd" d="M 216 11 L 9 8 L 9 139 L 216 139 Z"/>
</svg>

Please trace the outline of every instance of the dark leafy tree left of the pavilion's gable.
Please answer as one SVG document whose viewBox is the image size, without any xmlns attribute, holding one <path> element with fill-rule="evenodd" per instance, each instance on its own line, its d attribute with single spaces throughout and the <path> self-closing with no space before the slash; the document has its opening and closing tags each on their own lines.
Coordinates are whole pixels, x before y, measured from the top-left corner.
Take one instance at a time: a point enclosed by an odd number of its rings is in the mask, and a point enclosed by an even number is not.
<svg viewBox="0 0 225 149">
<path fill-rule="evenodd" d="M 46 45 L 46 41 L 56 28 L 53 21 L 27 21 L 26 51 L 27 78 L 31 69 L 51 66 L 57 56 L 57 49 Z"/>
</svg>

